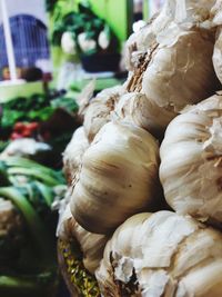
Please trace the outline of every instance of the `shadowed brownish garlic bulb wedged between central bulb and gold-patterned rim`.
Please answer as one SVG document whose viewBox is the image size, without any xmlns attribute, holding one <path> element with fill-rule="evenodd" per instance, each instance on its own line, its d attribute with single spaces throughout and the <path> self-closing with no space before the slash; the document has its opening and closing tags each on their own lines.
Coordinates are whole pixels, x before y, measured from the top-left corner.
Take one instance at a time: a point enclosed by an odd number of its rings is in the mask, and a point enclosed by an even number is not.
<svg viewBox="0 0 222 297">
<path fill-rule="evenodd" d="M 62 240 L 77 240 L 83 254 L 83 265 L 91 273 L 99 267 L 102 259 L 108 237 L 104 235 L 91 234 L 84 230 L 72 217 L 69 205 L 62 214 L 59 238 Z"/>
</svg>

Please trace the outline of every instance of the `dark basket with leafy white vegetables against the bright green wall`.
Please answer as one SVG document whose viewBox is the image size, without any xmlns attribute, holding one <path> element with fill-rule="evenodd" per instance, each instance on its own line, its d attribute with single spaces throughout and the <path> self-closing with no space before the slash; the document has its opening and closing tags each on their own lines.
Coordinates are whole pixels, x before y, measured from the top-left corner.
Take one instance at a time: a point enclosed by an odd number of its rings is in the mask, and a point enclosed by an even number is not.
<svg viewBox="0 0 222 297">
<path fill-rule="evenodd" d="M 91 1 L 57 1 L 51 10 L 51 43 L 87 72 L 119 70 L 120 42 L 114 28 L 94 13 Z"/>
</svg>

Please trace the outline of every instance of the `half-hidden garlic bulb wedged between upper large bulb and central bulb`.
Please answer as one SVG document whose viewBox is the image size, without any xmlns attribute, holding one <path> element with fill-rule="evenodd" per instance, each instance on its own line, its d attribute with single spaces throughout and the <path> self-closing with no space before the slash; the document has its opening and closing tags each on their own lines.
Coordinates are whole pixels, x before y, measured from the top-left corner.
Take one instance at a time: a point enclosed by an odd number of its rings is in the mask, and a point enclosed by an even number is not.
<svg viewBox="0 0 222 297">
<path fill-rule="evenodd" d="M 118 118 L 123 122 L 141 127 L 158 138 L 165 128 L 165 117 L 169 117 L 169 112 L 160 109 L 155 102 L 151 102 L 140 92 L 123 95 L 112 112 L 113 119 Z M 171 115 L 171 119 L 173 118 L 174 112 Z"/>
</svg>

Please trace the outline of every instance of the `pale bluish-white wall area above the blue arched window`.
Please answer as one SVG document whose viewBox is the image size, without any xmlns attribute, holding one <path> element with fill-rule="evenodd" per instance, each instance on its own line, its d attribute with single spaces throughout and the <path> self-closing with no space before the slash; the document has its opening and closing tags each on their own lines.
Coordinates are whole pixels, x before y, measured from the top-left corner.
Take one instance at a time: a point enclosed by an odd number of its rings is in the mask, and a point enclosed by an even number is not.
<svg viewBox="0 0 222 297">
<path fill-rule="evenodd" d="M 34 16 L 47 24 L 47 13 L 44 9 L 44 0 L 6 0 L 9 17 L 27 13 Z M 0 11 L 0 22 L 1 11 Z"/>
</svg>

